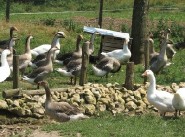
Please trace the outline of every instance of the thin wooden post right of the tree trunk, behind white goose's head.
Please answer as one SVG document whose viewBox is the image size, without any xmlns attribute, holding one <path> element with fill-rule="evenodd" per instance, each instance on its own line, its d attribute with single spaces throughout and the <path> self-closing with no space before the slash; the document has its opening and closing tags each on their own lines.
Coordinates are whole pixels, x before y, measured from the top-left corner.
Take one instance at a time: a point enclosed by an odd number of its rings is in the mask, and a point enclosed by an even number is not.
<svg viewBox="0 0 185 137">
<path fill-rule="evenodd" d="M 149 39 L 145 40 L 145 70 L 149 67 Z M 147 77 L 144 77 L 144 84 L 147 82 Z"/>
</svg>

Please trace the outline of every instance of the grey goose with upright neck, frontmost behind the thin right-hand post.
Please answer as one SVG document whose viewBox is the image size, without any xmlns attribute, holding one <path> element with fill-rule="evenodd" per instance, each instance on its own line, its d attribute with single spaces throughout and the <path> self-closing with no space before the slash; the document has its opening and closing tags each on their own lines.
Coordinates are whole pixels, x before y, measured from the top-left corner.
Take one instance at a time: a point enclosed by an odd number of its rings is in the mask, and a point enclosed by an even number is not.
<svg viewBox="0 0 185 137">
<path fill-rule="evenodd" d="M 153 58 L 150 60 L 150 67 L 149 69 L 152 70 L 155 74 L 158 74 L 167 64 L 167 56 L 166 56 L 166 46 L 167 46 L 167 38 L 168 33 L 170 31 L 165 31 L 165 36 L 162 39 L 162 48 L 160 50 L 159 55 L 154 60 Z"/>
</svg>

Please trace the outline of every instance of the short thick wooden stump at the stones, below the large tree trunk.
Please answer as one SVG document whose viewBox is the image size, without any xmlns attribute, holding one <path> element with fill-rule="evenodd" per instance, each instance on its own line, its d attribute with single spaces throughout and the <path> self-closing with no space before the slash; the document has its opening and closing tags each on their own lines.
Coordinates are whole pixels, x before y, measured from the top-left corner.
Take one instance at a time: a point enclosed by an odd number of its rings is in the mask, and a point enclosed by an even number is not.
<svg viewBox="0 0 185 137">
<path fill-rule="evenodd" d="M 134 88 L 134 62 L 127 63 L 125 88 L 129 90 L 132 90 Z"/>
</svg>

